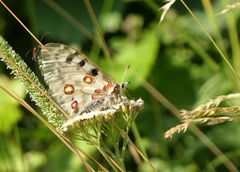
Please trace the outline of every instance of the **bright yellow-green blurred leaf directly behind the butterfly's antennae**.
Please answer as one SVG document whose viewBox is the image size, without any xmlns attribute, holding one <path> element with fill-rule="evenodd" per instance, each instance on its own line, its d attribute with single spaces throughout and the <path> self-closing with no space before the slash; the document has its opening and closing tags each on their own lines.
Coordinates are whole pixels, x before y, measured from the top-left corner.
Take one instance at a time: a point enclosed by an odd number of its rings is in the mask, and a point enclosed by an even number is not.
<svg viewBox="0 0 240 172">
<path fill-rule="evenodd" d="M 142 79 L 150 74 L 159 49 L 159 39 L 156 29 L 145 30 L 139 41 L 131 42 L 115 40 L 113 44 L 118 46 L 117 55 L 114 57 L 114 68 L 110 71 L 119 82 L 123 76 L 124 69 L 130 65 L 125 81 L 131 82 L 131 87 L 138 87 Z"/>
</svg>

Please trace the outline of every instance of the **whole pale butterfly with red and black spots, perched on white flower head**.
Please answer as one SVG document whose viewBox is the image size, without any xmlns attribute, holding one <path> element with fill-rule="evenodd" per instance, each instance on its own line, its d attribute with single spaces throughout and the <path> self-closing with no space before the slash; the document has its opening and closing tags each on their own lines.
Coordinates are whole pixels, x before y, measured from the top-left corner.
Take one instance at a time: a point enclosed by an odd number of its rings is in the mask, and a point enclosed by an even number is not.
<svg viewBox="0 0 240 172">
<path fill-rule="evenodd" d="M 76 121 L 118 111 L 121 103 L 129 100 L 122 96 L 128 82 L 116 83 L 83 53 L 59 43 L 48 43 L 39 48 L 38 61 L 49 94 Z"/>
</svg>

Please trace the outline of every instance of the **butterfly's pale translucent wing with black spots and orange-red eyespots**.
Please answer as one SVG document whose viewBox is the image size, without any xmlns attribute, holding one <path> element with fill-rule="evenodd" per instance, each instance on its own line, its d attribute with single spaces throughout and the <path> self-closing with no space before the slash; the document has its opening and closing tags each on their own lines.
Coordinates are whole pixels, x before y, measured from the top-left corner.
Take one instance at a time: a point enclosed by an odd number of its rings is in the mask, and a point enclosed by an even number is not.
<svg viewBox="0 0 240 172">
<path fill-rule="evenodd" d="M 114 89 L 111 76 L 67 45 L 48 43 L 38 57 L 49 94 L 71 116 L 81 114 L 89 104 Z"/>
</svg>

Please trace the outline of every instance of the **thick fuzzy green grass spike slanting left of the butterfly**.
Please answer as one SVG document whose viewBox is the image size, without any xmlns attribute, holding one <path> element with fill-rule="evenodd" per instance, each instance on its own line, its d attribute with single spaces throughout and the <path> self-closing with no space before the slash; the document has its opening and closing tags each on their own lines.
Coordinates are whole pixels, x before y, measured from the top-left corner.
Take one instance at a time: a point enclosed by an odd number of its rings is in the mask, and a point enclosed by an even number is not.
<svg viewBox="0 0 240 172">
<path fill-rule="evenodd" d="M 45 89 L 27 64 L 12 50 L 2 37 L 0 37 L 0 50 L 1 60 L 5 62 L 7 67 L 12 70 L 12 73 L 22 82 L 31 98 L 41 107 L 48 121 L 52 125 L 60 127 L 64 122 L 63 117 L 59 115 L 57 108 L 54 107 L 50 100 L 44 96 L 44 94 L 47 94 Z"/>
</svg>

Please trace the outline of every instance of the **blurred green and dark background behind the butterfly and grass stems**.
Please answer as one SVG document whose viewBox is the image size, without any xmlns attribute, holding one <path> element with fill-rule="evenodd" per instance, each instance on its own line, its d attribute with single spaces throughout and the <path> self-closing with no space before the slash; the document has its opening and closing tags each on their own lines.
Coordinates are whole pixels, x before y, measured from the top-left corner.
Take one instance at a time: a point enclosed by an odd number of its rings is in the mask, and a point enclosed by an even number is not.
<svg viewBox="0 0 240 172">
<path fill-rule="evenodd" d="M 91 1 L 112 54 L 114 68 L 109 65 L 103 48 L 96 41 L 96 26 L 85 3 L 77 0 L 53 1 L 62 8 L 59 10 L 51 2 L 10 0 L 6 4 L 42 43 L 60 42 L 80 48 L 117 81 L 121 81 L 126 66 L 131 65 L 125 77 L 131 82 L 128 94 L 130 98 L 141 97 L 145 101 L 136 124 L 142 145 L 157 171 L 229 171 L 221 158 L 216 157 L 190 131 L 171 140 L 164 139 L 164 132 L 180 121 L 144 86 L 146 80 L 176 108 L 189 110 L 210 98 L 239 91 L 237 78 L 180 1 L 173 5 L 161 24 L 162 1 Z M 239 72 L 240 10 L 218 15 L 227 4 L 234 2 L 237 1 L 186 1 Z M 79 24 L 86 28 L 85 32 Z M 2 5 L 0 33 L 42 79 L 31 54 L 33 47 L 37 46 L 36 41 Z M 10 73 L 0 63 L 1 79 L 37 110 L 29 96 L 24 94 L 22 85 Z M 1 90 L 0 97 L 0 171 L 84 169 L 79 159 L 40 121 Z M 201 130 L 240 168 L 238 123 L 201 126 Z M 135 140 L 131 132 L 130 137 Z M 81 144 L 104 165 L 95 149 Z M 149 170 L 144 161 L 137 165 L 130 153 L 126 155 L 125 162 L 131 171 Z"/>
</svg>

